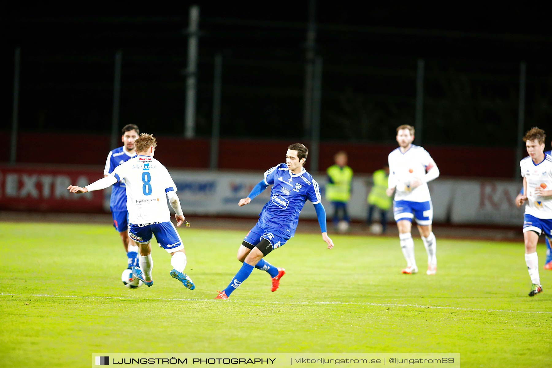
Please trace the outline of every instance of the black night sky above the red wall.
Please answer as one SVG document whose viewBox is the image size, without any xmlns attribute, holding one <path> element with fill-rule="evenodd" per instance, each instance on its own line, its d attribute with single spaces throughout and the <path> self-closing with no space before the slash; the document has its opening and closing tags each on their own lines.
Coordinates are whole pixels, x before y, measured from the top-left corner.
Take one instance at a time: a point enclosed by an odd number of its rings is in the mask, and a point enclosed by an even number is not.
<svg viewBox="0 0 552 368">
<path fill-rule="evenodd" d="M 213 3 L 199 3 L 198 135 L 210 134 L 213 57 L 220 52 L 223 136 L 275 138 L 282 126 L 305 136 L 308 2 Z M 22 47 L 21 129 L 70 131 L 77 122 L 107 134 L 113 55 L 120 49 L 121 124 L 182 135 L 188 7 L 10 9 L 4 60 Z M 426 142 L 487 145 L 492 134 L 493 145 L 515 145 L 520 61 L 528 71 L 526 125 L 546 128 L 552 118 L 552 29 L 543 9 L 319 3 L 316 20 L 323 140 L 391 140 L 395 126 L 413 124 L 420 57 Z M 13 65 L 3 70 L 13 80 Z M 2 106 L 8 130 L 12 100 Z M 466 138 L 466 129 L 482 134 Z"/>
</svg>

